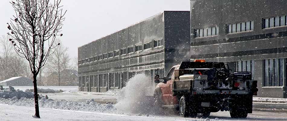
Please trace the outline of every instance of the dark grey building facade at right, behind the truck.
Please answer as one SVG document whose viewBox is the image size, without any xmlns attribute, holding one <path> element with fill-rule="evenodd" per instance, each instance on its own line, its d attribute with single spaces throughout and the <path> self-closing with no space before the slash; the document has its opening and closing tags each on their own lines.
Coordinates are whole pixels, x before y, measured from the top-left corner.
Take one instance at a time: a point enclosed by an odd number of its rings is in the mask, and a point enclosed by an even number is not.
<svg viewBox="0 0 287 121">
<path fill-rule="evenodd" d="M 258 96 L 286 98 L 286 0 L 191 0 L 191 61 L 251 71 Z"/>
</svg>

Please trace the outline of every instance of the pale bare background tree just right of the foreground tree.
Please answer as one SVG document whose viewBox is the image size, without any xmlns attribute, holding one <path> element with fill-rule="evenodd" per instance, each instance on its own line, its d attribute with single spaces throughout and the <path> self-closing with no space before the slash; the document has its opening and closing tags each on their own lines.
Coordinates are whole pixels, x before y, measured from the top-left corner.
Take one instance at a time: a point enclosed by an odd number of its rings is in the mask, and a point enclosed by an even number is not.
<svg viewBox="0 0 287 121">
<path fill-rule="evenodd" d="M 61 43 L 59 39 L 57 42 Z M 47 62 L 48 73 L 57 72 L 58 75 L 58 85 L 61 86 L 61 72 L 70 67 L 69 65 L 70 57 L 68 54 L 68 48 L 60 44 L 56 47 L 53 55 L 49 56 Z"/>
</svg>

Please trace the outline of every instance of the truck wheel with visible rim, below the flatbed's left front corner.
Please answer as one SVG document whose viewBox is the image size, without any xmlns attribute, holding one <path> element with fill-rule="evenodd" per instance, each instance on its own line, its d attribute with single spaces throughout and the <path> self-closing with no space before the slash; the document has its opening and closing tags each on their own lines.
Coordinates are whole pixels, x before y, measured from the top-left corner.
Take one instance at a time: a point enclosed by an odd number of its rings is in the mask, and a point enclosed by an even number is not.
<svg viewBox="0 0 287 121">
<path fill-rule="evenodd" d="M 182 96 L 179 100 L 179 114 L 182 117 L 188 117 L 189 116 L 189 102 L 188 98 L 185 96 Z"/>
</svg>

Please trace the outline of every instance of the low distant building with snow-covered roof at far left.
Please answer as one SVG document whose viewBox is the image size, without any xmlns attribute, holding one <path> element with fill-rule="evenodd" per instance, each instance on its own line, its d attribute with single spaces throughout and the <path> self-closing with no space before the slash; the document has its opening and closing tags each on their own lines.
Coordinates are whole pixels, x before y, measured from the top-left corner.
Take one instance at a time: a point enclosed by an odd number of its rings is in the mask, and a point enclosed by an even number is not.
<svg viewBox="0 0 287 121">
<path fill-rule="evenodd" d="M 0 81 L 2 86 L 33 86 L 33 81 L 26 77 L 12 77 L 7 80 Z"/>
</svg>

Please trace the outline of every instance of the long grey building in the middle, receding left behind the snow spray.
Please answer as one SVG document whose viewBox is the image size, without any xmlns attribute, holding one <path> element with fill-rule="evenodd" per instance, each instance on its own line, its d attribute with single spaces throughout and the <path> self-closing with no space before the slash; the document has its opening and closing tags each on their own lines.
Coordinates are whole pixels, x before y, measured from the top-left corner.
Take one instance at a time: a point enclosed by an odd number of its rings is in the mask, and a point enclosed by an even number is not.
<svg viewBox="0 0 287 121">
<path fill-rule="evenodd" d="M 122 88 L 137 73 L 163 76 L 173 65 L 189 61 L 189 15 L 163 11 L 79 47 L 79 90 Z"/>
</svg>

